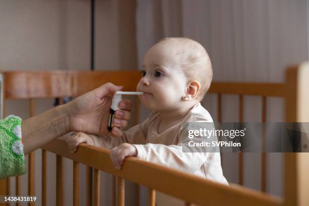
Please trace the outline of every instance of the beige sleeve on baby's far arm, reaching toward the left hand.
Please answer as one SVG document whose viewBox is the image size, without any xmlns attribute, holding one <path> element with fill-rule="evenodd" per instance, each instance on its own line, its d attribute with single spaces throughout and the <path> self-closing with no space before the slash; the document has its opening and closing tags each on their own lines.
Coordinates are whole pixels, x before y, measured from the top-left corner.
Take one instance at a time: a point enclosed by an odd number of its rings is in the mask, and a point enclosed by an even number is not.
<svg viewBox="0 0 309 206">
<path fill-rule="evenodd" d="M 113 137 L 111 135 L 95 136 L 91 135 L 94 140 L 94 145 L 107 149 L 112 149 L 122 143 L 130 144 L 145 144 L 148 128 L 150 126 L 150 117 L 148 117 L 141 124 L 131 127 L 127 131 L 123 132 L 121 137 Z"/>
</svg>

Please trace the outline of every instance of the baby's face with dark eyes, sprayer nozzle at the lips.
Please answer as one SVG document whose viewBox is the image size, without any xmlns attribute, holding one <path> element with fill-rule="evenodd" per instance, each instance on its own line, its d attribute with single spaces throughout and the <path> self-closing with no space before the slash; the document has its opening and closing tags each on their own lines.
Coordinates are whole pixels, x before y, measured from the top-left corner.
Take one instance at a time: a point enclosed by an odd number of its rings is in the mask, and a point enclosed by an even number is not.
<svg viewBox="0 0 309 206">
<path fill-rule="evenodd" d="M 171 46 L 156 44 L 145 54 L 137 91 L 144 92 L 139 98 L 151 110 L 171 111 L 182 105 L 187 79 L 174 50 Z"/>
</svg>

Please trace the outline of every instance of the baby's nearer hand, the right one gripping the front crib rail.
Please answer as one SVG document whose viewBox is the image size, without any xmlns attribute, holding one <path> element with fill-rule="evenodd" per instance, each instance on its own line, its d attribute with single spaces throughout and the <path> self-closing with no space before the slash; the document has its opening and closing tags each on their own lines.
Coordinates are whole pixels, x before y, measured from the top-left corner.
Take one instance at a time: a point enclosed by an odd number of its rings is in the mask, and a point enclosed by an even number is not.
<svg viewBox="0 0 309 206">
<path fill-rule="evenodd" d="M 114 167 L 120 170 L 123 164 L 123 160 L 126 157 L 136 157 L 137 150 L 132 144 L 122 143 L 112 149 L 110 156 Z"/>
</svg>

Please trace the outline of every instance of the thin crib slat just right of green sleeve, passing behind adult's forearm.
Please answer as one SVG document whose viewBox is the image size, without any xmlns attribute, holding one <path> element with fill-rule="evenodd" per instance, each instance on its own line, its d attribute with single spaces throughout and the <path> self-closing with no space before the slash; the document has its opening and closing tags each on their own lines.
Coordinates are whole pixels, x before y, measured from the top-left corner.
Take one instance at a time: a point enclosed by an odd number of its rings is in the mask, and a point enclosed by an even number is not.
<svg viewBox="0 0 309 206">
<path fill-rule="evenodd" d="M 29 115 L 34 116 L 34 99 L 29 99 Z M 28 195 L 34 196 L 34 151 L 28 155 Z M 28 205 L 34 205 L 34 202 L 29 202 Z"/>
</svg>

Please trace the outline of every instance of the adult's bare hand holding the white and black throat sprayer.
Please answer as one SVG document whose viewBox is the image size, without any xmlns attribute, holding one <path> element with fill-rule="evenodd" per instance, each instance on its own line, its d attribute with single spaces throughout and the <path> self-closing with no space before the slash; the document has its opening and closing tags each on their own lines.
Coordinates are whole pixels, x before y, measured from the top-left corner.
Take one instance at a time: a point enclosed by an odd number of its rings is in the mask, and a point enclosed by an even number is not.
<svg viewBox="0 0 309 206">
<path fill-rule="evenodd" d="M 70 131 L 79 131 L 89 134 L 108 134 L 108 121 L 112 97 L 115 91 L 121 90 L 122 86 L 112 83 L 104 84 L 89 91 L 65 106 L 69 113 Z M 126 127 L 131 118 L 131 101 L 123 99 L 119 102 L 119 109 L 115 112 L 112 135 L 120 137 L 122 131 L 119 128 Z"/>
</svg>

